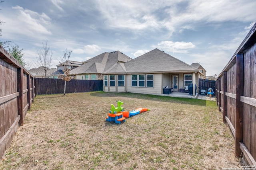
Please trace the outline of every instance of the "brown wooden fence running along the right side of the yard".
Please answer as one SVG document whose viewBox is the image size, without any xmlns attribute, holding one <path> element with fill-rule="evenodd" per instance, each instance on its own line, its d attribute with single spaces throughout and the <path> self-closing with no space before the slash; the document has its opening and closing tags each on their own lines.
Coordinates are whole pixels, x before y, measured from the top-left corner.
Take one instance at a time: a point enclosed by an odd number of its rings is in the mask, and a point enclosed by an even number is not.
<svg viewBox="0 0 256 170">
<path fill-rule="evenodd" d="M 223 121 L 235 139 L 235 155 L 256 165 L 256 24 L 216 82 Z"/>
</svg>

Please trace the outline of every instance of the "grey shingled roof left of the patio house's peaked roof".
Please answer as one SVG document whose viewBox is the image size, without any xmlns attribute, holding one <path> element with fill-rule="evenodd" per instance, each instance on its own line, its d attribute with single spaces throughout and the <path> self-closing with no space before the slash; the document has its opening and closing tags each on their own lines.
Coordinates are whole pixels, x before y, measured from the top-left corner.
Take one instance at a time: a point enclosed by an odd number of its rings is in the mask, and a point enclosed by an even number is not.
<svg viewBox="0 0 256 170">
<path fill-rule="evenodd" d="M 101 74 L 118 63 L 126 63 L 130 60 L 130 57 L 120 51 L 105 52 L 83 62 L 83 65 L 71 70 L 70 74 Z"/>
</svg>

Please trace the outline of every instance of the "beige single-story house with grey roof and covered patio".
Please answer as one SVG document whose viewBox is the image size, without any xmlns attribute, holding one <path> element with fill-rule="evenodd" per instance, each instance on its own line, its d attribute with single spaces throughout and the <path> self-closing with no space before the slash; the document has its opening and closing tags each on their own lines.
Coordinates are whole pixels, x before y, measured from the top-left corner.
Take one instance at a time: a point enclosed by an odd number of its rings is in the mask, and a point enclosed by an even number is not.
<svg viewBox="0 0 256 170">
<path fill-rule="evenodd" d="M 116 63 L 102 72 L 105 92 L 132 92 L 143 94 L 163 94 L 168 86 L 174 92 L 184 90 L 189 84 L 193 96 L 198 92 L 198 78 L 205 74 L 171 55 L 154 49 L 126 63 Z"/>
</svg>

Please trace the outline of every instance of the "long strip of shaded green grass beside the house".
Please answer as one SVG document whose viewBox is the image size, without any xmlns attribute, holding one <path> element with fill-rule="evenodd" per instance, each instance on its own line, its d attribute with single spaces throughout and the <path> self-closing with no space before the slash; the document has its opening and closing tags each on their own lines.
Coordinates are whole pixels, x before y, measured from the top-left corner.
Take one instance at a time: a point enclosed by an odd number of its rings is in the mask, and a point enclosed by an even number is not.
<svg viewBox="0 0 256 170">
<path fill-rule="evenodd" d="M 153 100 L 153 101 L 162 101 L 162 102 L 170 102 L 177 104 L 188 104 L 195 106 L 216 106 L 216 102 L 208 101 L 208 100 L 200 100 L 200 99 L 191 99 L 191 98 L 177 98 L 177 97 L 169 97 L 169 96 L 158 96 L 151 94 L 138 94 L 138 93 L 109 93 L 109 92 L 92 92 L 91 96 L 97 97 L 126 97 L 126 98 L 136 98 L 136 99 L 144 99 L 144 100 Z"/>
</svg>

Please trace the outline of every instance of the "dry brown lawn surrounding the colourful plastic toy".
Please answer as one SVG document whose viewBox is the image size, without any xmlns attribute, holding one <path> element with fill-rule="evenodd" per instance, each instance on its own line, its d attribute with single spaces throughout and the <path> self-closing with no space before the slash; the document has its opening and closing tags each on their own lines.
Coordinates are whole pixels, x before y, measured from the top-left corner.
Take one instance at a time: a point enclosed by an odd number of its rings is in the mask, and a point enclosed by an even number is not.
<svg viewBox="0 0 256 170">
<path fill-rule="evenodd" d="M 150 111 L 121 125 L 110 104 Z M 1 170 L 219 170 L 239 168 L 216 102 L 131 93 L 36 96 Z"/>
</svg>

